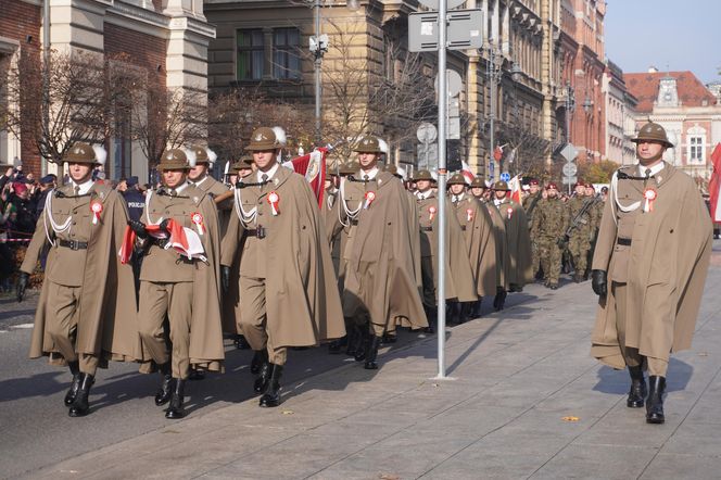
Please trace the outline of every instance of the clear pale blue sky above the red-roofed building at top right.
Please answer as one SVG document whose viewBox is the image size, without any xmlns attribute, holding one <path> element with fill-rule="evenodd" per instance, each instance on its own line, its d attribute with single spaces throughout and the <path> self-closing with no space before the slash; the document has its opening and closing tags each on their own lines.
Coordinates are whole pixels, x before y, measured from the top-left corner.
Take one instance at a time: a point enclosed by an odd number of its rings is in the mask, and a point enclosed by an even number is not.
<svg viewBox="0 0 721 480">
<path fill-rule="evenodd" d="M 623 72 L 721 80 L 721 0 L 607 0 L 605 29 L 606 56 Z"/>
</svg>

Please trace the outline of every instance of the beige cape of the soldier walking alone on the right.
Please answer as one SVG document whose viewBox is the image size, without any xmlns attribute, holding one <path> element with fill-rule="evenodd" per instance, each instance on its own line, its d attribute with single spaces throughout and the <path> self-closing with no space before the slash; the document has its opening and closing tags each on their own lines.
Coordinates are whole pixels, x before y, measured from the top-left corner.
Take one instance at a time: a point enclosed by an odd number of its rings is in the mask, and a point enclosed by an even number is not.
<svg viewBox="0 0 721 480">
<path fill-rule="evenodd" d="M 637 175 L 634 166 L 622 169 Z M 615 178 L 618 174 L 615 174 Z M 654 185 L 655 184 L 655 185 Z M 657 191 L 653 211 L 636 211 L 628 265 L 614 265 L 619 213 L 642 201 L 643 184 L 614 181 L 598 232 L 593 268 L 628 268 L 627 346 L 641 355 L 668 359 L 669 350 L 691 348 L 708 269 L 712 227 L 708 210 L 691 177 L 666 164 L 650 184 Z M 624 368 L 616 329 L 616 303 L 609 273 L 608 295 L 598 301 L 592 334 L 592 356 L 614 368 Z M 670 346 L 670 349 L 669 349 Z"/>
</svg>

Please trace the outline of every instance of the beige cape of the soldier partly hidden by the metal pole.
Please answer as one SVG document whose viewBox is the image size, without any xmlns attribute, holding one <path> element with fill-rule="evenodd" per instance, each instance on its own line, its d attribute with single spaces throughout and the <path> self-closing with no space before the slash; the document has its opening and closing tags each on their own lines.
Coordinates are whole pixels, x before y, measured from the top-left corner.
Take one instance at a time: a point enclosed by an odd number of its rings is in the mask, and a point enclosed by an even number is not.
<svg viewBox="0 0 721 480">
<path fill-rule="evenodd" d="M 446 204 L 446 212 L 453 213 L 455 209 L 451 201 L 443 197 Z M 432 257 L 433 264 L 433 287 L 438 288 L 439 255 L 438 255 L 438 204 L 439 198 L 431 193 L 427 199 L 418 199 L 418 224 L 420 225 L 420 249 L 423 256 Z M 431 214 L 431 209 L 435 210 Z M 476 280 L 468 258 L 466 240 L 458 224 L 456 215 L 446 216 L 445 231 L 445 298 L 455 299 L 459 302 L 475 302 L 478 300 L 476 294 Z M 431 230 L 426 230 L 426 228 Z"/>
</svg>

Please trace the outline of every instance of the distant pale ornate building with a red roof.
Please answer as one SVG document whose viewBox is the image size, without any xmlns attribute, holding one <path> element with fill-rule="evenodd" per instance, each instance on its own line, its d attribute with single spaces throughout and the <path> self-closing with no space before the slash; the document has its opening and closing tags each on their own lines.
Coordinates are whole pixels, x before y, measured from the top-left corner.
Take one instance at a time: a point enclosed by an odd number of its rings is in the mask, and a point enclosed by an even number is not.
<svg viewBox="0 0 721 480">
<path fill-rule="evenodd" d="M 721 103 L 692 72 L 658 72 L 623 75 L 629 91 L 638 99 L 635 130 L 647 121 L 666 128 L 675 146 L 663 159 L 692 177 L 708 179 L 711 152 L 721 141 Z"/>
</svg>

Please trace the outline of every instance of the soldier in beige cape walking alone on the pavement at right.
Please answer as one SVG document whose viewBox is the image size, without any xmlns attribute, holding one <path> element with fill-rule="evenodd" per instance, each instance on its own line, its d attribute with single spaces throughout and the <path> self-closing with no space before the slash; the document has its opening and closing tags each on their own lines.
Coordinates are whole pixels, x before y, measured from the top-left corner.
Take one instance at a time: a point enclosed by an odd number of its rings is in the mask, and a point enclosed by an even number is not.
<svg viewBox="0 0 721 480">
<path fill-rule="evenodd" d="M 662 160 L 673 148 L 663 127 L 648 122 L 633 141 L 638 164 L 611 178 L 593 257 L 599 301 L 591 353 L 628 367 L 627 406 L 645 403 L 646 421 L 662 424 L 670 352 L 691 346 L 712 231 L 693 179 Z"/>
</svg>

